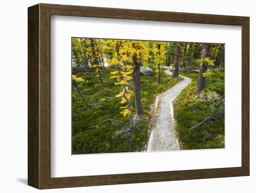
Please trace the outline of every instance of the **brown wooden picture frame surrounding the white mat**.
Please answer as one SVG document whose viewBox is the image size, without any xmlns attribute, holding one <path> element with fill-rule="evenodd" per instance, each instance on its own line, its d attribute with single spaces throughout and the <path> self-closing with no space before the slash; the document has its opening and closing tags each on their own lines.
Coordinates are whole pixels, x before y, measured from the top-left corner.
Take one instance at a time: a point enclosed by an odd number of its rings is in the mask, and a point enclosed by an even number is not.
<svg viewBox="0 0 256 193">
<path fill-rule="evenodd" d="M 242 167 L 51 178 L 51 15 L 242 26 Z M 247 175 L 249 175 L 249 17 L 53 4 L 38 4 L 28 8 L 29 186 L 47 189 Z"/>
</svg>

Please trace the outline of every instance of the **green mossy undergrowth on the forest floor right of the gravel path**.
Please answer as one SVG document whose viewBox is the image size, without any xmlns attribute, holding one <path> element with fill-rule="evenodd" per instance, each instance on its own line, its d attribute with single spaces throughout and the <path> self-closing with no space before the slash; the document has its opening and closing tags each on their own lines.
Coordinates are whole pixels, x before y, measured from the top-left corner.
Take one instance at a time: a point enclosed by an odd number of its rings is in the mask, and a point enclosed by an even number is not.
<svg viewBox="0 0 256 193">
<path fill-rule="evenodd" d="M 180 72 L 192 78 L 189 84 L 175 100 L 174 112 L 176 131 L 183 149 L 224 148 L 224 115 L 216 121 L 209 120 L 201 126 L 189 130 L 205 117 L 216 115 L 223 109 L 223 103 L 196 98 L 198 73 Z M 216 92 L 224 101 L 224 72 L 212 72 L 206 78 L 205 93 Z"/>
</svg>

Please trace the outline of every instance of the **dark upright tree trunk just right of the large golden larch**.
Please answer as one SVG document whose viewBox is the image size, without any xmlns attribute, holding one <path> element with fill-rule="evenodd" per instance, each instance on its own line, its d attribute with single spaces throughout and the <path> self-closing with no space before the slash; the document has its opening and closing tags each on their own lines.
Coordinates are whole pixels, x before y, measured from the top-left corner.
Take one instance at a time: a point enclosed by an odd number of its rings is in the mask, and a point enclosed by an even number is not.
<svg viewBox="0 0 256 193">
<path fill-rule="evenodd" d="M 141 62 L 137 61 L 137 54 L 133 55 L 133 81 L 134 81 L 134 94 L 135 94 L 135 106 L 136 114 L 138 116 L 142 115 L 142 106 L 141 106 L 141 84 L 140 84 L 140 64 Z"/>
</svg>

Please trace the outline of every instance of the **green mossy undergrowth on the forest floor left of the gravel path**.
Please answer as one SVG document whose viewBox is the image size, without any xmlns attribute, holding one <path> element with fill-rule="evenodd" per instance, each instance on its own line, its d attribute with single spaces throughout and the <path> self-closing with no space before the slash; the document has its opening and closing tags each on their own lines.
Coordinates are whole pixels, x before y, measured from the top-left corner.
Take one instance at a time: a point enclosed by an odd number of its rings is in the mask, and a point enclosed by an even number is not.
<svg viewBox="0 0 256 193">
<path fill-rule="evenodd" d="M 150 68 L 155 71 L 154 67 L 150 66 Z M 153 76 L 141 76 L 141 103 L 144 118 L 132 129 L 131 134 L 116 135 L 116 131 L 124 129 L 123 123 L 106 121 L 93 128 L 106 119 L 116 119 L 130 124 L 128 117 L 121 115 L 121 104 L 119 99 L 115 98 L 120 91 L 120 86 L 116 86 L 114 80 L 110 78 L 112 70 L 106 68 L 105 74 L 102 74 L 103 84 L 99 82 L 94 71 L 77 74 L 77 77 L 83 77 L 85 80 L 79 83 L 79 87 L 87 102 L 93 107 L 85 108 L 77 91 L 74 90 L 72 95 L 73 154 L 141 151 L 148 137 L 150 105 L 154 103 L 156 96 L 179 82 L 165 74 L 164 69 L 162 69 L 161 84 L 156 83 L 155 73 Z M 134 98 L 131 99 L 131 104 L 132 111 L 135 113 Z"/>
</svg>

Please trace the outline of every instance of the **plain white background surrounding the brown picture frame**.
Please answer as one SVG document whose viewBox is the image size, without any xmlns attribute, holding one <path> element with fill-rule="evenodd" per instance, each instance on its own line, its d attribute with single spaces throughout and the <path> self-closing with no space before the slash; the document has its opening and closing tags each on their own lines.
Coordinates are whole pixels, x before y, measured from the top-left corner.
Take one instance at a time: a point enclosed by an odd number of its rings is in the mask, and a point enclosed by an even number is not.
<svg viewBox="0 0 256 193">
<path fill-rule="evenodd" d="M 34 193 L 38 190 L 27 184 L 27 7 L 37 3 L 73 4 L 83 6 L 104 6 L 159 11 L 211 13 L 250 17 L 250 134 L 251 175 L 222 179 L 186 180 L 158 183 L 128 184 L 101 187 L 78 187 L 40 192 L 83 192 L 83 193 L 130 193 L 130 192 L 190 192 L 190 193 L 253 193 L 255 192 L 256 167 L 253 149 L 256 139 L 253 126 L 253 112 L 256 110 L 252 98 L 255 96 L 256 68 L 253 66 L 253 48 L 256 36 L 256 12 L 252 0 L 7 0 L 0 5 L 0 190 L 1 192 Z M 253 34 L 254 33 L 254 34 Z M 254 93 L 253 93 L 254 92 Z"/>
</svg>

